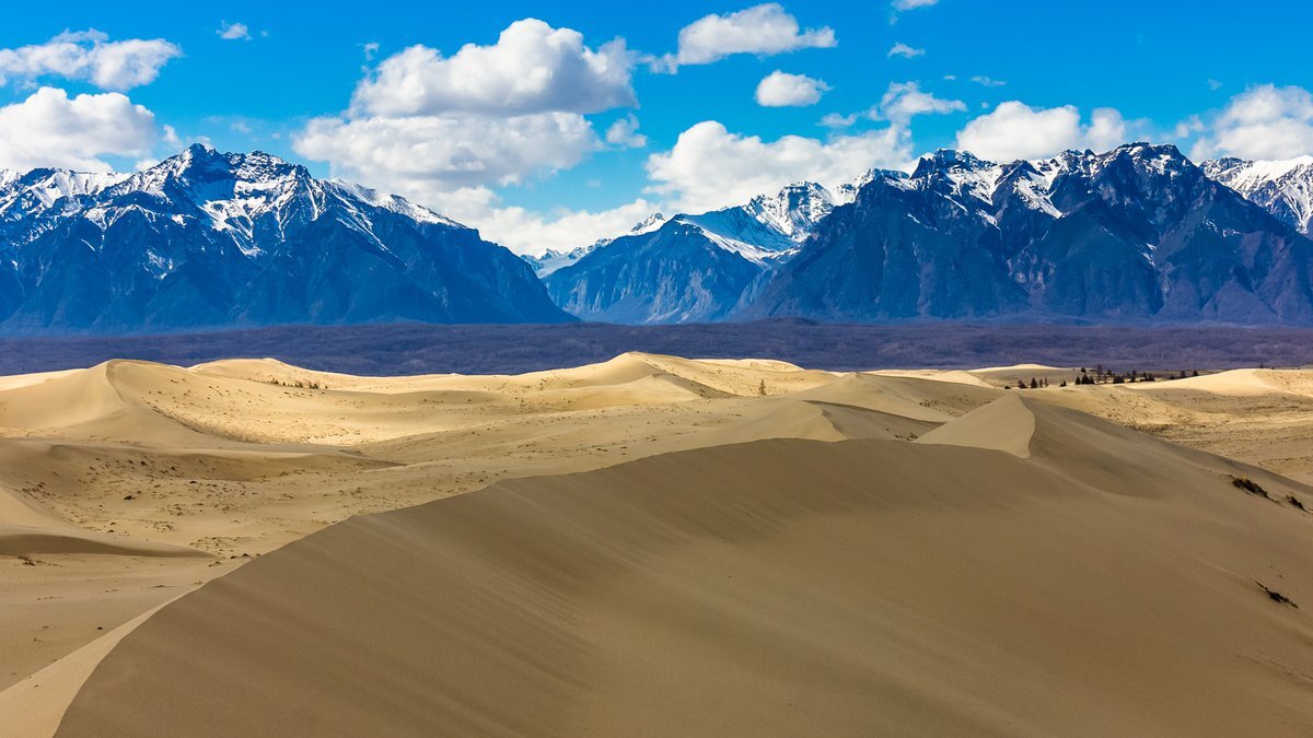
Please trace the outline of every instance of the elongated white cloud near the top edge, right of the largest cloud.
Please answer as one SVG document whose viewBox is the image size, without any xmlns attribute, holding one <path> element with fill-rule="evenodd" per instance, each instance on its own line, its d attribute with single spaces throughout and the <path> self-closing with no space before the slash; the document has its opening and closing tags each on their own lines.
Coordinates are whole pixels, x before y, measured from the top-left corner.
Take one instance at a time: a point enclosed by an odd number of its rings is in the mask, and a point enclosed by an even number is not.
<svg viewBox="0 0 1313 738">
<path fill-rule="evenodd" d="M 777 3 L 737 13 L 705 16 L 679 32 L 674 63 L 710 64 L 731 54 L 781 54 L 798 49 L 829 49 L 838 42 L 830 28 L 806 29 Z M 671 62 L 671 60 L 667 60 Z"/>
</svg>

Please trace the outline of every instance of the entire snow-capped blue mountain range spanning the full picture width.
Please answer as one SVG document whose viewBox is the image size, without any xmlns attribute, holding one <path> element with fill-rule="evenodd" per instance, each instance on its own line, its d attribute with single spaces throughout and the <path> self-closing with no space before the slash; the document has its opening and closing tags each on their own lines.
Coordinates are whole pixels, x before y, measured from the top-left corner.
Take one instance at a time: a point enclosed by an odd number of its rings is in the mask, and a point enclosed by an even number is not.
<svg viewBox="0 0 1313 738">
<path fill-rule="evenodd" d="M 800 183 L 520 259 L 403 198 L 193 146 L 134 175 L 0 172 L 0 331 L 571 315 L 1305 326 L 1310 219 L 1309 158 L 939 151 L 911 175 Z"/>
</svg>

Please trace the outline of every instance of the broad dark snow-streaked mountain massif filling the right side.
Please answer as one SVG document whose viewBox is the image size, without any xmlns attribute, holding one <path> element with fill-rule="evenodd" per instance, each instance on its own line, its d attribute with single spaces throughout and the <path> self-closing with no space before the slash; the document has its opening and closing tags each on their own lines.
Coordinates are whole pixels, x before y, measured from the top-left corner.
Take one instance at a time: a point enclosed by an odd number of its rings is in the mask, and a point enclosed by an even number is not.
<svg viewBox="0 0 1313 738">
<path fill-rule="evenodd" d="M 1174 146 L 877 173 L 739 318 L 1313 323 L 1313 242 Z"/>
</svg>

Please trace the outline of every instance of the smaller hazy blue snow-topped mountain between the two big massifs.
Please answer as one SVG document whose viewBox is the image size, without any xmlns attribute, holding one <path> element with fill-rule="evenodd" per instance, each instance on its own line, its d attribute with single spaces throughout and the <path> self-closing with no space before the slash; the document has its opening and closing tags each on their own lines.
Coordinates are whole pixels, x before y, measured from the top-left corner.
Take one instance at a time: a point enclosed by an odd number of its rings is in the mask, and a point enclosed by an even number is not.
<svg viewBox="0 0 1313 738">
<path fill-rule="evenodd" d="M 714 320 L 796 255 L 847 194 L 800 183 L 744 205 L 645 222 L 544 277 L 557 305 L 580 318 Z"/>
</svg>

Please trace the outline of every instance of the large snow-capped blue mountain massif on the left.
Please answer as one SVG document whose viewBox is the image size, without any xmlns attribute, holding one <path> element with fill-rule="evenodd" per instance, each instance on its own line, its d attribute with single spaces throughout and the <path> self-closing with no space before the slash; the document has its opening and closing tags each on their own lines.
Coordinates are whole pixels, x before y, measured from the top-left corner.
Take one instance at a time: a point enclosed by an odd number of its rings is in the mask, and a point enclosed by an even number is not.
<svg viewBox="0 0 1313 738">
<path fill-rule="evenodd" d="M 566 319 L 477 231 L 268 154 L 0 176 L 7 332 Z"/>
</svg>

